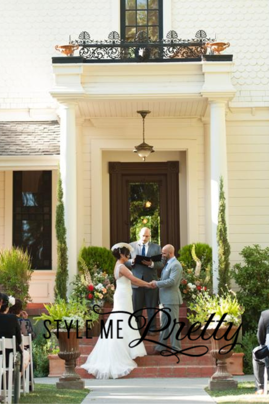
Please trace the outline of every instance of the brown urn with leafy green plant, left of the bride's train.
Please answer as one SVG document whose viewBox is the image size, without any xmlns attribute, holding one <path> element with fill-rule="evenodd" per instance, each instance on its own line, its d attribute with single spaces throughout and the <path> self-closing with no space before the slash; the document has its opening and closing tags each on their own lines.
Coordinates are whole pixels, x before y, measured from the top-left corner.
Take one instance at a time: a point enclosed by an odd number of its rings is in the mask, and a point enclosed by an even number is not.
<svg viewBox="0 0 269 404">
<path fill-rule="evenodd" d="M 98 314 L 88 309 L 85 299 L 77 301 L 57 299 L 53 304 L 44 305 L 47 313 L 36 317 L 44 321 L 47 330 L 53 332 L 59 341 L 58 356 L 65 361 L 65 372 L 57 383 L 58 388 L 83 388 L 84 383 L 76 373 L 76 360 L 80 356 L 79 338 L 86 327 L 98 319 Z M 90 321 L 90 322 L 89 322 Z"/>
</svg>

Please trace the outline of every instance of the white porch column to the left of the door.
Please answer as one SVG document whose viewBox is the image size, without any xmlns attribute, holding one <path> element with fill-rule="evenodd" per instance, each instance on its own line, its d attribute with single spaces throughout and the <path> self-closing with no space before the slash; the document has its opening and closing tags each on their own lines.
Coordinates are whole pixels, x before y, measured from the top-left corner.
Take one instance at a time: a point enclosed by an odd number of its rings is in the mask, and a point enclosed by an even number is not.
<svg viewBox="0 0 269 404">
<path fill-rule="evenodd" d="M 77 144 L 75 103 L 61 108 L 60 171 L 63 182 L 68 247 L 68 293 L 77 273 Z"/>
</svg>

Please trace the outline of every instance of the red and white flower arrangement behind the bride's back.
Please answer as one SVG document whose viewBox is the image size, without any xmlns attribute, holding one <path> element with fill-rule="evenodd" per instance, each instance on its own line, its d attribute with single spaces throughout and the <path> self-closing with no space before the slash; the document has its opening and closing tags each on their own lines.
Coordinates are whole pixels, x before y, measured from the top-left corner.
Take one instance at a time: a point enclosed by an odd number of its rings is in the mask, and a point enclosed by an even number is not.
<svg viewBox="0 0 269 404">
<path fill-rule="evenodd" d="M 80 264 L 82 270 L 72 282 L 74 288 L 72 296 L 76 298 L 85 298 L 89 307 L 98 305 L 103 307 L 105 302 L 112 303 L 115 292 L 113 277 L 108 275 L 105 271 L 97 269 L 96 266 L 90 271 L 85 261 L 80 257 Z"/>
</svg>

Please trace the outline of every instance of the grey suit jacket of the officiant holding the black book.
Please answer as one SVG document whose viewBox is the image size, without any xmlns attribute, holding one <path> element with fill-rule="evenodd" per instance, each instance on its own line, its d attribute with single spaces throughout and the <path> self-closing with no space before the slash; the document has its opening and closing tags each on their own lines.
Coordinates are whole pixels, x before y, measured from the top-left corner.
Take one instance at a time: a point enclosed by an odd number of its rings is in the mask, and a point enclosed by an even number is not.
<svg viewBox="0 0 269 404">
<path fill-rule="evenodd" d="M 145 282 L 151 282 L 152 280 L 157 280 L 157 270 L 160 270 L 164 267 L 163 261 L 154 262 L 154 267 L 149 268 L 145 265 L 135 264 L 132 265 L 132 260 L 137 255 L 141 255 L 141 245 L 139 241 L 135 241 L 130 243 L 130 245 L 134 248 L 133 252 L 131 252 L 131 259 L 125 264 L 127 268 L 129 268 L 133 275 L 139 279 L 143 279 Z M 147 250 L 147 257 L 152 257 L 162 254 L 162 249 L 158 244 L 155 243 L 148 243 L 148 250 Z M 132 285 L 132 287 L 138 287 Z"/>
</svg>

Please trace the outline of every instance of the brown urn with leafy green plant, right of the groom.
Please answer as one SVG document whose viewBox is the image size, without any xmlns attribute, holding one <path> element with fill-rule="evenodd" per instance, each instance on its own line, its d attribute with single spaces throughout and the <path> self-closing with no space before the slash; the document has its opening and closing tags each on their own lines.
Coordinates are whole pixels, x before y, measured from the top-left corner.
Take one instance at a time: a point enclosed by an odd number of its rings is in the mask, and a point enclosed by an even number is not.
<svg viewBox="0 0 269 404">
<path fill-rule="evenodd" d="M 234 292 L 232 292 L 234 293 Z M 241 328 L 241 315 L 244 312 L 235 293 L 231 291 L 210 296 L 207 292 L 196 297 L 190 304 L 192 313 L 188 315 L 191 324 L 206 326 L 211 338 L 211 355 L 217 361 L 217 370 L 209 381 L 211 390 L 229 389 L 237 386 L 227 370 L 227 359 L 233 354 L 232 345 Z M 208 318 L 212 315 L 208 325 Z"/>
</svg>

